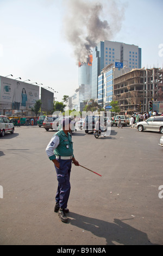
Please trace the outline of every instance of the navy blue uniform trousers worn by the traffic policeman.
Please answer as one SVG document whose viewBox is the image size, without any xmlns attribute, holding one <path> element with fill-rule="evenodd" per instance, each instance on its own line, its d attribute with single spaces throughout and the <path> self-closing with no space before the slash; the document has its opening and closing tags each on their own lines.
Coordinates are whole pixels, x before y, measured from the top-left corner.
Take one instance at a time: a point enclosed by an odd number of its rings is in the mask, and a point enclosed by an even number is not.
<svg viewBox="0 0 163 256">
<path fill-rule="evenodd" d="M 60 208 L 67 208 L 68 198 L 70 196 L 70 172 L 72 166 L 72 160 L 58 159 L 60 168 L 55 166 L 57 172 L 58 189 L 55 196 L 55 201 L 59 203 Z"/>
</svg>

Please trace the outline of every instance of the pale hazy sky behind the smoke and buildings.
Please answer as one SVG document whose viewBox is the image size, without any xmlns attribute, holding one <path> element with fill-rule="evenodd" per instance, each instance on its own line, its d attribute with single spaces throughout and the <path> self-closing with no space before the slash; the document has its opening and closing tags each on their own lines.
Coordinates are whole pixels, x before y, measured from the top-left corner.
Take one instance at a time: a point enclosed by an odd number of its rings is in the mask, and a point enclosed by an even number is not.
<svg viewBox="0 0 163 256">
<path fill-rule="evenodd" d="M 0 0 L 0 75 L 52 87 L 59 101 L 65 94 L 71 96 L 78 87 L 78 66 L 76 42 L 72 44 L 68 35 L 75 28 L 82 39 L 89 19 L 86 9 L 95 3 L 103 4 L 100 18 L 109 24 L 105 40 L 138 45 L 142 67 L 162 68 L 162 0 L 80 0 L 85 19 L 82 8 L 74 8 L 75 1 Z"/>
</svg>

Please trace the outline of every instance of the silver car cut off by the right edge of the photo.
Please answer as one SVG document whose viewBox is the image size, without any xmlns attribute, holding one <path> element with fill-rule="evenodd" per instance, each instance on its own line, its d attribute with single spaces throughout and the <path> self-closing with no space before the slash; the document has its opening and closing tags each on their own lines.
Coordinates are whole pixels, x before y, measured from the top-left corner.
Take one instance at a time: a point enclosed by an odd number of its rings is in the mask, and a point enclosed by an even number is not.
<svg viewBox="0 0 163 256">
<path fill-rule="evenodd" d="M 135 125 L 138 131 L 156 131 L 163 134 L 163 116 L 149 117 L 146 121 L 139 122 Z"/>
</svg>

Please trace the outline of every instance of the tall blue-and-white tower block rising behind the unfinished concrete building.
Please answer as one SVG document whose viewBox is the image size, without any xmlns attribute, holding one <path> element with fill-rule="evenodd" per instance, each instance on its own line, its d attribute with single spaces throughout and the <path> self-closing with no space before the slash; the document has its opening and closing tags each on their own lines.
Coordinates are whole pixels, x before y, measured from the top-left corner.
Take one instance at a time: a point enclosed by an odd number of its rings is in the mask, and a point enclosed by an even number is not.
<svg viewBox="0 0 163 256">
<path fill-rule="evenodd" d="M 122 42 L 101 41 L 93 48 L 92 99 L 97 99 L 98 76 L 109 64 L 123 63 L 129 70 L 141 68 L 141 48 Z"/>
</svg>

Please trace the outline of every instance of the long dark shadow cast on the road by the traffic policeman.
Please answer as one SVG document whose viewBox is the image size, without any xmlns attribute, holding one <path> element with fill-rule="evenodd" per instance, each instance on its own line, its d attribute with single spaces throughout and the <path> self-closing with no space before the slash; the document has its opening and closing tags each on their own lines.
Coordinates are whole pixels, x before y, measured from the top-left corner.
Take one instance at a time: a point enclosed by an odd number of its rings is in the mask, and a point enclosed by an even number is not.
<svg viewBox="0 0 163 256">
<path fill-rule="evenodd" d="M 90 231 L 95 236 L 104 237 L 106 245 L 152 245 L 146 233 L 116 218 L 114 223 L 110 223 L 75 214 L 74 212 L 70 212 L 67 217 L 71 218 L 71 225 Z"/>
</svg>

